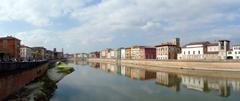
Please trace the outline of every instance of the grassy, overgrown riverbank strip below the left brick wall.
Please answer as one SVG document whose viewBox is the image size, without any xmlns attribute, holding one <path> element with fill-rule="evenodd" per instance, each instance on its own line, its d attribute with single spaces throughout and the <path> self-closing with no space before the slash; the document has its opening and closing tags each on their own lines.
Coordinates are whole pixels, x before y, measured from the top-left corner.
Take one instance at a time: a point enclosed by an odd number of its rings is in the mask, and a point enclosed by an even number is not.
<svg viewBox="0 0 240 101">
<path fill-rule="evenodd" d="M 27 84 L 24 88 L 9 96 L 6 100 L 13 101 L 48 101 L 57 89 L 57 82 L 73 72 L 74 69 L 63 62 L 49 64 L 44 75 Z"/>
</svg>

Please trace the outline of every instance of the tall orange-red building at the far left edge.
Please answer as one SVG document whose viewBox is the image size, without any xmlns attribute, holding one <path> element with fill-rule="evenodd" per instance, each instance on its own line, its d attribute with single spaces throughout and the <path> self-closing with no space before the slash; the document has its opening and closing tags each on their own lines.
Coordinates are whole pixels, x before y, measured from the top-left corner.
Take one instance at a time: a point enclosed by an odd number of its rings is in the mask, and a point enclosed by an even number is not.
<svg viewBox="0 0 240 101">
<path fill-rule="evenodd" d="M 19 60 L 21 40 L 12 37 L 0 37 L 0 60 Z"/>
</svg>

